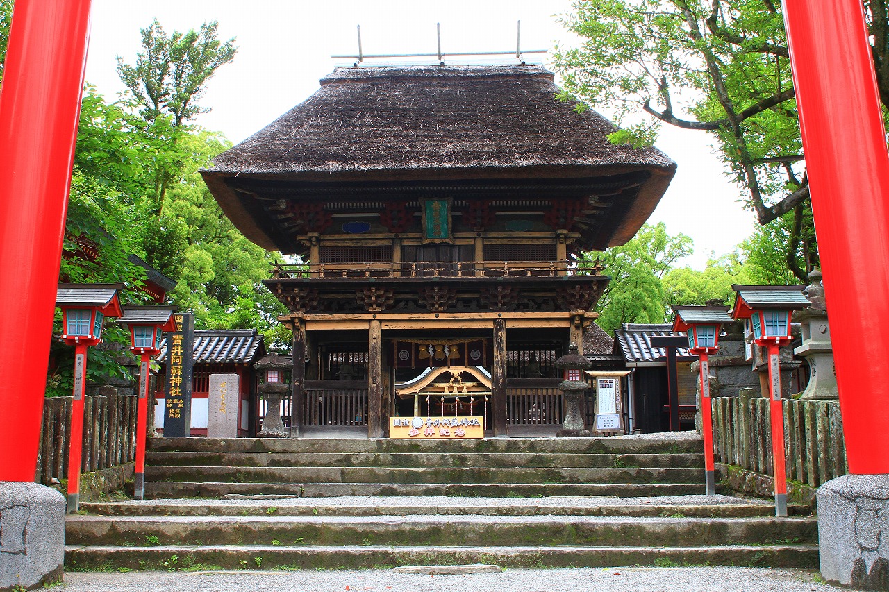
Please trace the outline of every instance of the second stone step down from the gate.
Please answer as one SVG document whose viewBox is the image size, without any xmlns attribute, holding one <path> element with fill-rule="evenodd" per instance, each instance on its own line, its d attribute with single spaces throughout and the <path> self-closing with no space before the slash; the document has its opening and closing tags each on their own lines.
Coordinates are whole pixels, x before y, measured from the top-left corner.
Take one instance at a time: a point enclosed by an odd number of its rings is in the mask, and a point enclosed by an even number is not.
<svg viewBox="0 0 889 592">
<path fill-rule="evenodd" d="M 554 452 L 149 452 L 166 467 L 703 468 L 703 454 Z"/>
</svg>

